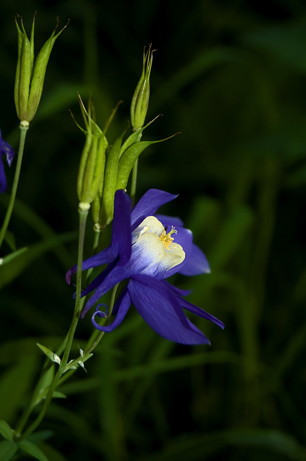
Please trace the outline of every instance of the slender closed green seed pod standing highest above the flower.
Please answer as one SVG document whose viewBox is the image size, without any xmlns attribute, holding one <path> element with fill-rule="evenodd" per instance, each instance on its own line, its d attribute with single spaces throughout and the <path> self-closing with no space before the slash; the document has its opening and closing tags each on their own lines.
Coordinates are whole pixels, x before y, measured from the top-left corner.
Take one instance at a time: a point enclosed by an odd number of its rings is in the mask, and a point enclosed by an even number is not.
<svg viewBox="0 0 306 461">
<path fill-rule="evenodd" d="M 134 92 L 132 103 L 130 104 L 130 121 L 133 131 L 137 131 L 143 127 L 147 115 L 153 51 L 155 50 L 151 51 L 151 45 L 146 53 L 145 49 L 143 50 L 142 74 Z"/>
</svg>

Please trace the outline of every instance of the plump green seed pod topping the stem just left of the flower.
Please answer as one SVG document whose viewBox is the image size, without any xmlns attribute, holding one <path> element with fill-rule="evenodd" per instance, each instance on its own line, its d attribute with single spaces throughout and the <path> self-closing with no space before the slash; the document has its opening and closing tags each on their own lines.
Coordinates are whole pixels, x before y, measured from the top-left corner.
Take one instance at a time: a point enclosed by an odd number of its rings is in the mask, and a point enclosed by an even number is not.
<svg viewBox="0 0 306 461">
<path fill-rule="evenodd" d="M 82 204 L 90 204 L 97 195 L 99 188 L 103 189 L 105 151 L 108 148 L 108 142 L 102 130 L 91 117 L 92 103 L 90 103 L 89 113 L 86 112 L 81 98 L 80 104 L 86 124 L 86 130 L 81 130 L 85 134 L 86 140 L 79 166 L 77 193 Z"/>
</svg>

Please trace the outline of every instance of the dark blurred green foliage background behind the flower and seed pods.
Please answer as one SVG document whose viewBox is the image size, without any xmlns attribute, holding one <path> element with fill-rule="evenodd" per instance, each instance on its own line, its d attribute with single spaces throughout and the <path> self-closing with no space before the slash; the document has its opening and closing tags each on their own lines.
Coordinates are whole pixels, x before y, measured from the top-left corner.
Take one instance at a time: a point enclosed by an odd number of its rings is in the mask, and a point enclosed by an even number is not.
<svg viewBox="0 0 306 461">
<path fill-rule="evenodd" d="M 162 212 L 180 216 L 192 229 L 212 273 L 177 276 L 173 283 L 193 289 L 188 300 L 226 328 L 192 318 L 212 346 L 186 347 L 158 337 L 130 309 L 105 334 L 86 364 L 88 374 L 77 370 L 59 388 L 68 399 L 54 400 L 32 442 L 49 461 L 302 457 L 305 3 L 1 2 L 0 125 L 15 149 L 14 15 L 22 15 L 29 28 L 35 10 L 37 50 L 57 16 L 60 26 L 68 18 L 70 24 L 48 64 L 1 255 L 16 252 L 7 261 L 8 278 L 1 272 L 0 280 L 0 419 L 16 424 L 44 360 L 35 343 L 55 350 L 72 317 L 73 289 L 64 274 L 76 261 L 83 138 L 68 109 L 80 120 L 76 91 L 83 100 L 91 92 L 103 125 L 123 99 L 108 131 L 114 141 L 126 128 L 143 47 L 152 43 L 158 51 L 147 120 L 164 116 L 143 139 L 182 134 L 142 154 L 137 195 L 150 187 L 180 194 Z M 9 184 L 13 172 L 14 164 Z M 1 197 L 1 217 L 7 200 Z M 109 239 L 107 231 L 102 245 Z M 86 245 L 89 256 L 91 223 Z M 86 318 L 78 326 L 74 354 L 91 332 Z"/>
</svg>

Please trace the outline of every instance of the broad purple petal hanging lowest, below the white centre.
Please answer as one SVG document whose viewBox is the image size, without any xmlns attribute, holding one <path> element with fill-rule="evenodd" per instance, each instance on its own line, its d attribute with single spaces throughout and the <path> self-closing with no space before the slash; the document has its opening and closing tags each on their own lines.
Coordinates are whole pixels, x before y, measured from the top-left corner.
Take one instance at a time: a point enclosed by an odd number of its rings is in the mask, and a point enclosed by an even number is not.
<svg viewBox="0 0 306 461">
<path fill-rule="evenodd" d="M 209 344 L 185 317 L 177 297 L 162 281 L 137 275 L 129 281 L 127 289 L 141 317 L 162 337 L 182 344 Z"/>
</svg>

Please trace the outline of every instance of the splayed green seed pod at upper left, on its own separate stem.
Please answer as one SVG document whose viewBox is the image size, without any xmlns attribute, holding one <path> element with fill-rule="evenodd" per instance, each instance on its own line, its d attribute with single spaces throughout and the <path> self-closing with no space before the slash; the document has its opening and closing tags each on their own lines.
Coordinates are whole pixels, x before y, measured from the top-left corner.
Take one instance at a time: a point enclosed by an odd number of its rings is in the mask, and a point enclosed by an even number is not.
<svg viewBox="0 0 306 461">
<path fill-rule="evenodd" d="M 21 17 L 21 16 L 19 16 Z M 67 27 L 67 25 L 55 35 L 53 31 L 51 37 L 46 41 L 45 45 L 41 48 L 34 63 L 34 22 L 31 30 L 30 40 L 27 37 L 23 18 L 21 17 L 20 30 L 17 18 L 15 17 L 18 33 L 18 60 L 15 78 L 15 106 L 17 116 L 24 124 L 29 124 L 36 114 L 38 104 L 40 101 L 43 80 L 45 79 L 48 60 L 55 40 L 59 34 Z"/>
</svg>

